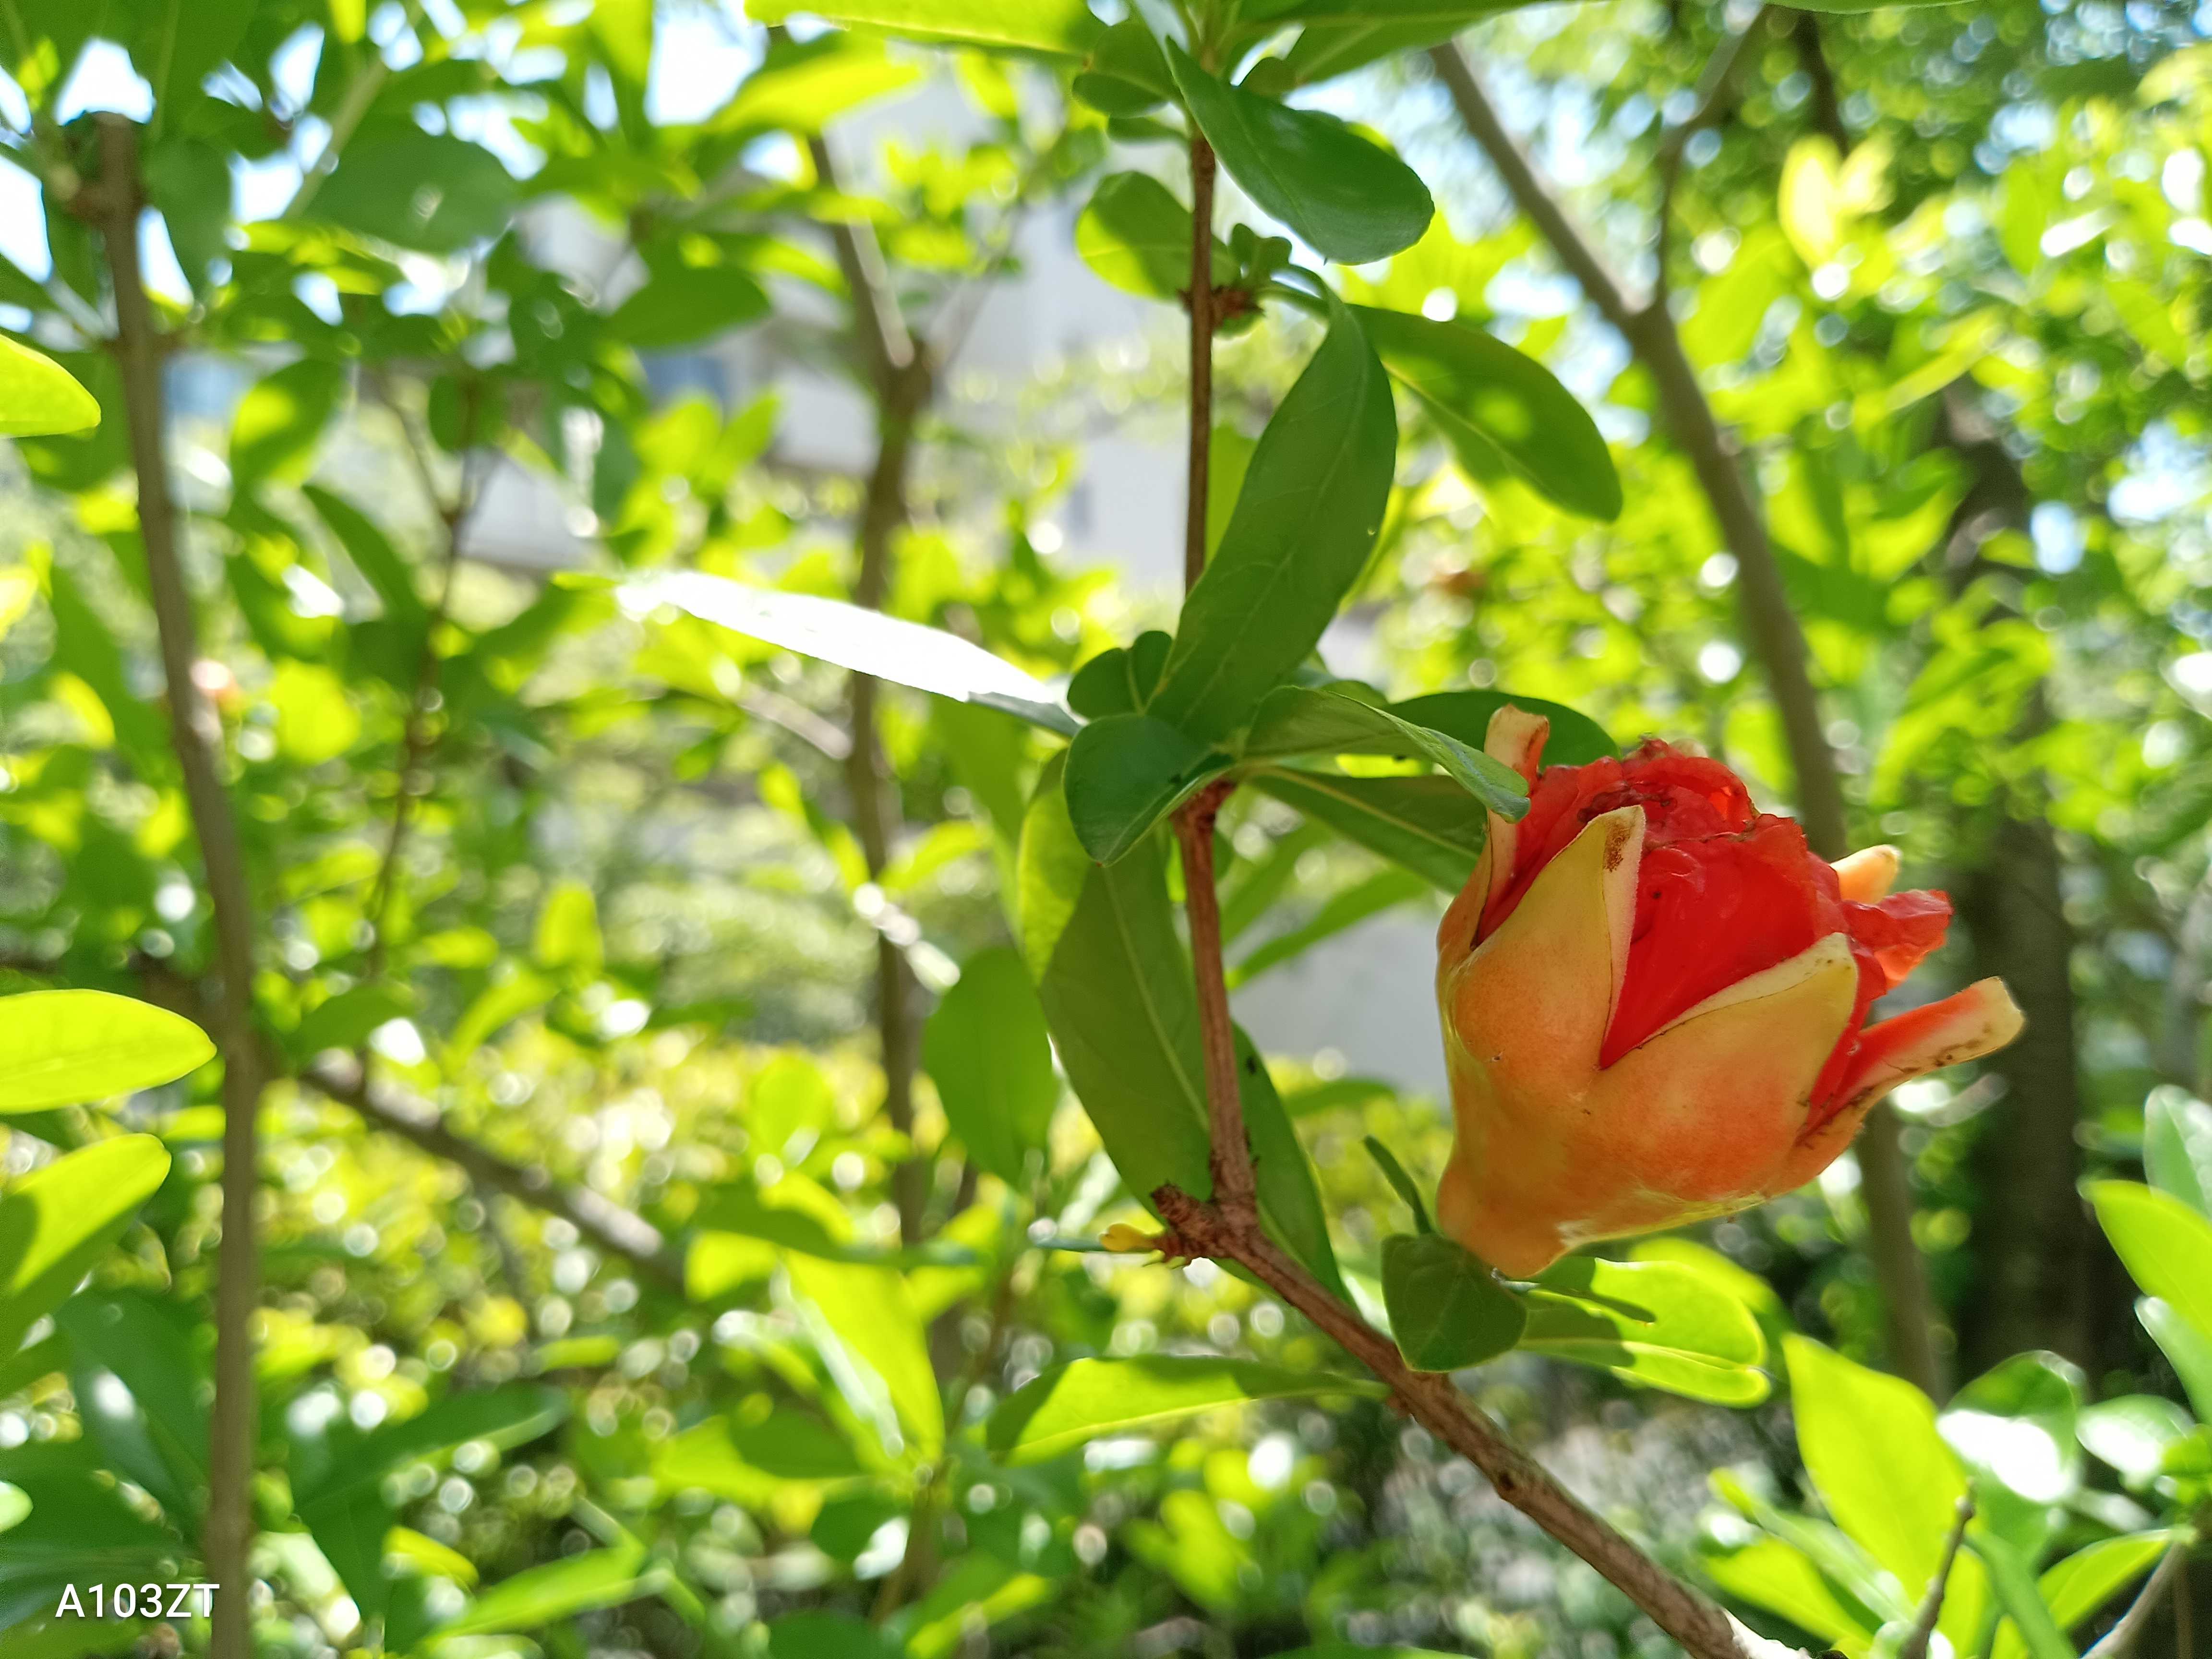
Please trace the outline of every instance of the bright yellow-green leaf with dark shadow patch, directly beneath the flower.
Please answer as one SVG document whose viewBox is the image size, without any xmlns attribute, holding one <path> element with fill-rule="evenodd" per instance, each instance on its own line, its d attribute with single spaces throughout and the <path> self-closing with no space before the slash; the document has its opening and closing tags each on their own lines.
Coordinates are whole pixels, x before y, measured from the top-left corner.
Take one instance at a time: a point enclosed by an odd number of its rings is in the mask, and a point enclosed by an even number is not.
<svg viewBox="0 0 2212 1659">
<path fill-rule="evenodd" d="M 1520 1345 L 1714 1405 L 1767 1398 L 1752 1310 L 1672 1261 L 1568 1256 L 1537 1274 Z"/>
</svg>

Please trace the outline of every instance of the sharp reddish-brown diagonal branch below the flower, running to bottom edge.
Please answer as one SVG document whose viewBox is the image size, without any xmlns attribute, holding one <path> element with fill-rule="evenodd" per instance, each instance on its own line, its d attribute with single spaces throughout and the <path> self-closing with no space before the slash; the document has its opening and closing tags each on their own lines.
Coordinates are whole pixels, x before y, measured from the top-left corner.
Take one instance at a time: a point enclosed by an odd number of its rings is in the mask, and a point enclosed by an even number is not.
<svg viewBox="0 0 2212 1659">
<path fill-rule="evenodd" d="M 1668 1573 L 1613 1524 L 1566 1491 L 1526 1451 L 1506 1440 L 1480 1411 L 1471 1411 L 1451 1376 L 1416 1371 L 1398 1345 L 1336 1301 L 1321 1281 L 1292 1261 L 1259 1225 L 1239 1225 L 1219 1206 L 1199 1203 L 1175 1186 L 1152 1192 L 1152 1208 L 1175 1230 L 1170 1245 L 1186 1256 L 1237 1263 L 1276 1296 L 1305 1314 L 1352 1358 L 1374 1371 L 1398 1407 L 1422 1429 L 1480 1469 L 1498 1495 L 1595 1566 L 1661 1630 L 1697 1659 L 1745 1659 L 1792 1652 L 1752 1635 L 1719 1604 Z"/>
</svg>

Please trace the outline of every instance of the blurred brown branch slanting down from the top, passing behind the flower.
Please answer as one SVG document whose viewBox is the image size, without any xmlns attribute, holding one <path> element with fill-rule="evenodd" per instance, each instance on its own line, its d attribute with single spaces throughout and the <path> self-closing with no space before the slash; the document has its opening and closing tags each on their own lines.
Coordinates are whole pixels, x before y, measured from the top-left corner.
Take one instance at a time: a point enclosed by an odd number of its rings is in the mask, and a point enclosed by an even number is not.
<svg viewBox="0 0 2212 1659">
<path fill-rule="evenodd" d="M 1506 192 L 1551 243 L 1582 292 L 1621 332 L 1659 389 L 1659 407 L 1674 445 L 1688 456 L 1705 493 L 1721 540 L 1736 557 L 1736 604 L 1743 635 L 1765 670 L 1767 690 L 1783 717 L 1790 765 L 1796 774 L 1796 807 L 1805 838 L 1823 858 L 1849 852 L 1843 772 L 1820 723 L 1805 635 L 1783 588 L 1781 562 L 1767 540 L 1765 513 L 1736 453 L 1732 434 L 1721 429 L 1683 352 L 1681 334 L 1666 305 L 1632 303 L 1606 261 L 1537 177 L 1520 142 L 1506 133 L 1467 58 L 1453 44 L 1433 46 L 1436 64 L 1469 135 L 1489 155 Z M 1911 1234 L 1911 1175 L 1898 1141 L 1898 1115 L 1880 1104 L 1867 1113 L 1858 1137 L 1860 1188 L 1867 1197 L 1869 1256 L 1887 1314 L 1889 1358 L 1922 1391 L 1942 1396 L 1942 1363 L 1936 1352 L 1936 1303 L 1927 1285 L 1927 1263 Z"/>
</svg>

